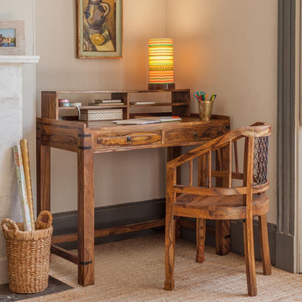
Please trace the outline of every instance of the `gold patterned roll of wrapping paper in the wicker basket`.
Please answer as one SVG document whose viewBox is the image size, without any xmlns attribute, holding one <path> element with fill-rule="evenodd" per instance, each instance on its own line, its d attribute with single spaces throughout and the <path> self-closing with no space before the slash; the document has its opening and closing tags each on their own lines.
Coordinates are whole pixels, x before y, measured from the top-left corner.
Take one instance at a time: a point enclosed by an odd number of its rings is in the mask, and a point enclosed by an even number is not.
<svg viewBox="0 0 302 302">
<path fill-rule="evenodd" d="M 20 140 L 20 144 L 21 144 L 21 154 L 22 154 L 22 161 L 23 161 L 23 168 L 24 168 L 29 214 L 31 215 L 31 226 L 34 231 L 36 229 L 35 212 L 34 212 L 33 191 L 31 187 L 31 166 L 29 163 L 28 141 Z"/>
</svg>

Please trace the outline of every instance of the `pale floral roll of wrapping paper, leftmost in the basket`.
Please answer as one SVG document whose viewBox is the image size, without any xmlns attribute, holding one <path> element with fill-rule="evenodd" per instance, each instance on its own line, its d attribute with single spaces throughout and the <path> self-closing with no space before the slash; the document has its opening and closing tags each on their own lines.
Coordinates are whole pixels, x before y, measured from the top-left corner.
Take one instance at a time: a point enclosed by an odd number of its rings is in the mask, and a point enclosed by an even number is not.
<svg viewBox="0 0 302 302">
<path fill-rule="evenodd" d="M 32 231 L 20 145 L 13 146 L 24 231 Z"/>
</svg>

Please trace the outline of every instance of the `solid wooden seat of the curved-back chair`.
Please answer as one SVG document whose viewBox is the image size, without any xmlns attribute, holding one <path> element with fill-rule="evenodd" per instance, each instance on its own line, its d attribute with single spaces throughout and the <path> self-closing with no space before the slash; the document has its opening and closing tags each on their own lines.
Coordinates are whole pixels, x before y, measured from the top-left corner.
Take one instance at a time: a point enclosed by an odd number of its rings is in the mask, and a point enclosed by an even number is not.
<svg viewBox="0 0 302 302">
<path fill-rule="evenodd" d="M 253 216 L 268 212 L 268 196 L 253 194 Z M 182 194 L 173 204 L 173 215 L 206 219 L 244 219 L 243 195 L 212 196 Z"/>
</svg>

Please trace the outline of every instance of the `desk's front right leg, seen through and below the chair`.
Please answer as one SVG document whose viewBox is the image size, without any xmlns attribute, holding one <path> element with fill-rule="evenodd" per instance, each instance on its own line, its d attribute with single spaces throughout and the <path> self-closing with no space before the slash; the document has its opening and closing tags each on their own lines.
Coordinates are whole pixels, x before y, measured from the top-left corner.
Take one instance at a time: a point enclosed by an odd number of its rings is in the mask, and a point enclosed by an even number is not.
<svg viewBox="0 0 302 302">
<path fill-rule="evenodd" d="M 229 149 L 224 147 L 216 151 L 216 170 L 219 170 L 218 152 L 221 152 L 222 170 L 228 171 L 229 169 Z M 227 187 L 226 178 L 216 178 L 217 187 Z M 230 220 L 216 220 L 216 255 L 227 255 L 230 252 Z"/>
</svg>

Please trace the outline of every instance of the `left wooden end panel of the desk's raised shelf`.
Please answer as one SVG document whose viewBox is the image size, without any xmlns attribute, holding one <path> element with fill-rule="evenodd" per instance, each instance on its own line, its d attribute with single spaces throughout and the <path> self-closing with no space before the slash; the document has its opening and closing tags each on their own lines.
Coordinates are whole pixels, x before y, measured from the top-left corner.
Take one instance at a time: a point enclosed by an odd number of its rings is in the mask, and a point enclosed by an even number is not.
<svg viewBox="0 0 302 302">
<path fill-rule="evenodd" d="M 41 92 L 41 117 L 58 119 L 59 117 L 59 98 L 56 92 Z"/>
</svg>

